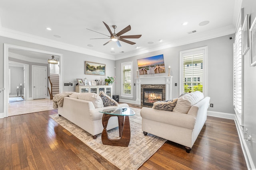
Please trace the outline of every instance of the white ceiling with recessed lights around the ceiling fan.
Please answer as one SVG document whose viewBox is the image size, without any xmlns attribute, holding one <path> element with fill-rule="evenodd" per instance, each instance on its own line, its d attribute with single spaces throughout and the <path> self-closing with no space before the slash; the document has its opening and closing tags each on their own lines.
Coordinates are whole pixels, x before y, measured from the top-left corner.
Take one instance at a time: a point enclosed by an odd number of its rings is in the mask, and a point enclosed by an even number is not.
<svg viewBox="0 0 256 170">
<path fill-rule="evenodd" d="M 82 53 L 118 58 L 235 33 L 241 0 L 1 0 L 0 4 L 1 36 L 25 35 L 34 38 L 27 41 L 36 39 L 34 43 L 47 40 L 63 49 L 68 45 Z M 135 45 L 120 41 L 119 48 L 115 42 L 103 46 L 109 39 L 91 38 L 108 37 L 88 30 L 109 35 L 102 21 L 112 32 L 112 25 L 117 25 L 116 33 L 131 25 L 123 35 L 142 36 L 127 39 Z M 198 25 L 202 21 L 210 23 Z M 188 34 L 193 30 L 197 32 Z"/>
</svg>

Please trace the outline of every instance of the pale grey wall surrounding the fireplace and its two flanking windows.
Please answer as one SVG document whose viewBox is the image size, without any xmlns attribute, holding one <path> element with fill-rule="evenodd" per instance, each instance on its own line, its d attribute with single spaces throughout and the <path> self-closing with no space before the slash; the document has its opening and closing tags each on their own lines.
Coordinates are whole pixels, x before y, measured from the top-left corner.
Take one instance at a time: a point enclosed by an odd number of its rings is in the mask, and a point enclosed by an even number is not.
<svg viewBox="0 0 256 170">
<path fill-rule="evenodd" d="M 209 111 L 217 111 L 223 113 L 234 113 L 233 107 L 233 43 L 234 39 L 230 40 L 229 37 L 234 35 L 227 35 L 197 43 L 191 43 L 188 45 L 182 45 L 179 47 L 173 47 L 134 57 L 122 59 L 116 61 L 116 88 L 115 94 L 121 94 L 121 63 L 126 61 L 133 61 L 133 77 L 136 77 L 136 70 L 138 69 L 137 59 L 145 57 L 151 57 L 154 55 L 164 54 L 165 68 L 168 70 L 168 66 L 171 66 L 172 77 L 172 98 L 177 98 L 180 94 L 180 51 L 194 49 L 198 47 L 208 46 L 208 96 L 211 98 L 210 103 L 214 104 L 214 107 L 209 107 Z M 145 76 L 167 76 L 166 73 L 150 74 Z M 133 84 L 136 81 L 133 80 Z M 174 84 L 177 83 L 177 86 Z M 118 84 L 118 85 L 117 85 Z M 133 90 L 134 98 L 136 100 L 136 87 Z M 127 100 L 120 97 L 122 100 Z"/>
</svg>

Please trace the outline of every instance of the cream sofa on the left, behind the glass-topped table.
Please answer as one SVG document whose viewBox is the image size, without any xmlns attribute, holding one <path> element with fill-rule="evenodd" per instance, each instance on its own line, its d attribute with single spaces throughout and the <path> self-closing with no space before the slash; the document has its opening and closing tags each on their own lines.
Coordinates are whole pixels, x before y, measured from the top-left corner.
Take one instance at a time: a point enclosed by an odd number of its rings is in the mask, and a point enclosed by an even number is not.
<svg viewBox="0 0 256 170">
<path fill-rule="evenodd" d="M 99 111 L 112 107 L 117 106 L 104 107 L 101 98 L 97 94 L 73 93 L 70 97 L 64 97 L 63 106 L 58 107 L 58 114 L 78 125 L 96 139 L 97 135 L 103 131 L 103 113 Z M 118 107 L 129 106 L 128 104 L 120 104 Z M 118 119 L 117 117 L 111 117 L 108 121 L 107 130 L 115 127 L 118 127 Z"/>
</svg>

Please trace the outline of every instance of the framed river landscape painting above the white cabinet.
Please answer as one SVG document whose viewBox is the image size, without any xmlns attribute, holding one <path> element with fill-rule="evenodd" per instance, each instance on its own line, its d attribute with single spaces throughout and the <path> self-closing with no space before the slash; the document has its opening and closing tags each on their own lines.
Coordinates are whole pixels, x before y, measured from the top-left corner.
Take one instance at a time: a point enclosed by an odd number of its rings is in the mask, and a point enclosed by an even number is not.
<svg viewBox="0 0 256 170">
<path fill-rule="evenodd" d="M 85 62 L 85 74 L 92 75 L 101 75 L 105 76 L 106 64 L 94 63 L 94 62 Z"/>
</svg>

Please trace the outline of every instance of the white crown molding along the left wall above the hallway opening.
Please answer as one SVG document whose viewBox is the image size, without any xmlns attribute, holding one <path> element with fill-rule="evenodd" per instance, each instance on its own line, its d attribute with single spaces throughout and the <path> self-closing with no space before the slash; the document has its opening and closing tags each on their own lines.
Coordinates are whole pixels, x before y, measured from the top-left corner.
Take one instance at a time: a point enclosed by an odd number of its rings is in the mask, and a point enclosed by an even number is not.
<svg viewBox="0 0 256 170">
<path fill-rule="evenodd" d="M 12 30 L 12 29 L 7 29 L 7 28 L 4 28 L 4 27 L 1 27 L 1 25 L 0 25 L 0 36 L 12 38 L 12 39 L 18 39 L 18 40 L 21 40 L 21 41 L 27 41 L 27 42 L 30 42 L 30 43 L 36 43 L 36 44 L 40 44 L 40 45 L 45 45 L 45 46 L 49 46 L 49 47 L 54 47 L 54 48 L 58 48 L 58 49 L 64 49 L 64 50 L 73 51 L 73 52 L 76 52 L 76 53 L 82 53 L 82 54 L 86 54 L 86 55 L 91 55 L 91 56 L 95 56 L 95 57 L 100 57 L 100 58 L 104 58 L 104 59 L 115 60 L 115 57 L 113 55 L 108 55 L 108 54 L 105 54 L 105 53 L 100 53 L 100 52 L 97 52 L 97 51 L 93 51 L 93 50 L 90 50 L 90 49 L 78 47 L 78 46 L 75 46 L 75 45 L 70 45 L 70 44 L 67 44 L 67 43 L 62 43 L 62 42 L 59 42 L 59 41 L 46 39 L 46 38 L 43 38 L 43 37 L 31 35 L 31 34 L 28 34 L 28 33 L 15 31 L 15 30 Z"/>
</svg>

